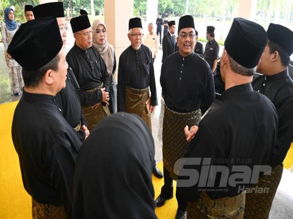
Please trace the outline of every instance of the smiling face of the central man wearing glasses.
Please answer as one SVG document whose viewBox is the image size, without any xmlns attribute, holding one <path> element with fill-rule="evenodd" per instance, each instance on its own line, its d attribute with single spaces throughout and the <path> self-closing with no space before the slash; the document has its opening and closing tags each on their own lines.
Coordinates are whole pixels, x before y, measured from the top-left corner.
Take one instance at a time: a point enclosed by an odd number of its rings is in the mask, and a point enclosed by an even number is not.
<svg viewBox="0 0 293 219">
<path fill-rule="evenodd" d="M 177 37 L 177 44 L 179 47 L 179 52 L 182 56 L 188 56 L 192 53 L 196 43 L 195 37 L 195 31 L 191 27 L 180 30 Z"/>
</svg>

